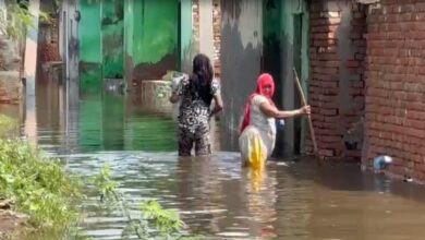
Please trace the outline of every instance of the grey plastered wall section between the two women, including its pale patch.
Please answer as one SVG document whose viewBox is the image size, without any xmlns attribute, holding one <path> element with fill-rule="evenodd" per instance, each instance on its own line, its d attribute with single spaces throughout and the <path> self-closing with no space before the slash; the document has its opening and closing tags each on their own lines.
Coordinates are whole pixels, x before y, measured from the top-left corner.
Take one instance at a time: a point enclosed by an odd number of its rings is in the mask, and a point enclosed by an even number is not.
<svg viewBox="0 0 425 240">
<path fill-rule="evenodd" d="M 221 84 L 224 149 L 236 149 L 239 123 L 246 97 L 255 89 L 263 52 L 263 2 L 222 0 Z"/>
</svg>

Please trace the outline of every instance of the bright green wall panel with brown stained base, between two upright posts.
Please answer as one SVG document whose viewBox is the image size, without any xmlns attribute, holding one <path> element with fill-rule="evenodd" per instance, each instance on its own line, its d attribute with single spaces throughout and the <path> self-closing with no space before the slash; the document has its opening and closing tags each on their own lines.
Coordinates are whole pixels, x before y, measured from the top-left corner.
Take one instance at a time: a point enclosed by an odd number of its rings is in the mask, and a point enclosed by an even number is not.
<svg viewBox="0 0 425 240">
<path fill-rule="evenodd" d="M 127 77 L 158 80 L 179 69 L 179 1 L 129 0 L 124 9 Z"/>
</svg>

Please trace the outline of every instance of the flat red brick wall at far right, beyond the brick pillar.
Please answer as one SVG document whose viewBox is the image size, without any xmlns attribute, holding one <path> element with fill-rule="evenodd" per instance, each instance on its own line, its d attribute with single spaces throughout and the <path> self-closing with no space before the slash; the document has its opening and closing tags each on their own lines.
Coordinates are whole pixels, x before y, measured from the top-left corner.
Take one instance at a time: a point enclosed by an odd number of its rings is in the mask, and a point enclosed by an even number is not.
<svg viewBox="0 0 425 240">
<path fill-rule="evenodd" d="M 425 180 L 425 0 L 382 0 L 367 17 L 363 163 Z"/>
</svg>

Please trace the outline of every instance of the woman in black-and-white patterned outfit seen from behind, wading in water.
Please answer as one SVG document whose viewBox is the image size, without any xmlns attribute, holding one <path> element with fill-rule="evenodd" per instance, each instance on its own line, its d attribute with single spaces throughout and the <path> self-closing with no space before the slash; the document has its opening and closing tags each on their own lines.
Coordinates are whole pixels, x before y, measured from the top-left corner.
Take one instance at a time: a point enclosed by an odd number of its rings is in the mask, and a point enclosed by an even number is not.
<svg viewBox="0 0 425 240">
<path fill-rule="evenodd" d="M 211 154 L 209 142 L 209 119 L 222 109 L 220 85 L 212 80 L 210 60 L 205 55 L 193 59 L 193 73 L 183 79 L 173 89 L 171 103 L 181 99 L 179 112 L 179 156 L 191 156 L 195 144 L 195 155 Z M 210 110 L 211 101 L 215 107 Z"/>
</svg>

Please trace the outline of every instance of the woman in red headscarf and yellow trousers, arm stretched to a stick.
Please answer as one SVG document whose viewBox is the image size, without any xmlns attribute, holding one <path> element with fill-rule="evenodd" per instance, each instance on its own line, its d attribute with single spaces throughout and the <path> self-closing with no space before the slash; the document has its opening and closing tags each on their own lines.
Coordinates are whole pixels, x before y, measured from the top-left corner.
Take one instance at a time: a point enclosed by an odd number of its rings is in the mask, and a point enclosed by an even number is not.
<svg viewBox="0 0 425 240">
<path fill-rule="evenodd" d="M 258 76 L 255 93 L 251 94 L 244 110 L 239 147 L 244 165 L 262 165 L 271 155 L 276 140 L 276 119 L 309 115 L 311 107 L 279 110 L 272 101 L 275 82 L 270 74 Z"/>
</svg>

